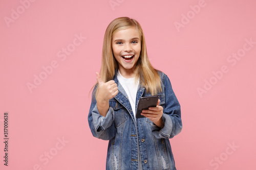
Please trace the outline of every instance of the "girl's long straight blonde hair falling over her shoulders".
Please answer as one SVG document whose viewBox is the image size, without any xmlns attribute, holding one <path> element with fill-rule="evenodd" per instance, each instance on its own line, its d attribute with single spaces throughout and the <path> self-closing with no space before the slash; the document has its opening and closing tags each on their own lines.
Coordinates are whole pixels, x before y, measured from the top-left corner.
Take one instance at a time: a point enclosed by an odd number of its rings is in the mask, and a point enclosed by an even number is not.
<svg viewBox="0 0 256 170">
<path fill-rule="evenodd" d="M 116 32 L 131 27 L 139 31 L 141 40 L 140 56 L 135 65 L 136 80 L 140 78 L 140 83 L 145 87 L 146 92 L 156 95 L 157 92 L 162 91 L 158 70 L 156 70 L 151 65 L 150 60 L 148 60 L 145 37 L 139 22 L 129 17 L 116 18 L 111 21 L 108 28 L 106 28 L 102 48 L 100 78 L 103 82 L 113 80 L 115 70 L 118 69 L 118 62 L 112 52 L 112 37 Z"/>
</svg>

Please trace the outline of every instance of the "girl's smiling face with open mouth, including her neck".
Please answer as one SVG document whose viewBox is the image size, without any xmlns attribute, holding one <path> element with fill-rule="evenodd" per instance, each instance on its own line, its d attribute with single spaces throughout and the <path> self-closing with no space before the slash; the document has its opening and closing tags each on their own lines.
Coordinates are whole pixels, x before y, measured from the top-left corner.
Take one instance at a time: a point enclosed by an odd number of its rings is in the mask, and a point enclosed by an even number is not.
<svg viewBox="0 0 256 170">
<path fill-rule="evenodd" d="M 140 50 L 140 34 L 136 28 L 120 30 L 113 35 L 112 51 L 123 77 L 135 77 L 134 70 L 140 56 Z"/>
</svg>

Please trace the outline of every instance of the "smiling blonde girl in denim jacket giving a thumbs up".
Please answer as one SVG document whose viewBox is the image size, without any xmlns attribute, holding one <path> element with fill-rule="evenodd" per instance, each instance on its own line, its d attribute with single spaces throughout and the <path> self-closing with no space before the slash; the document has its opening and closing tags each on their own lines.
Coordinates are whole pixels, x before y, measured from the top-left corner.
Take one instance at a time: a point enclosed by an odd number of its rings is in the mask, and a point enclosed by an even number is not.
<svg viewBox="0 0 256 170">
<path fill-rule="evenodd" d="M 180 104 L 168 77 L 151 65 L 143 31 L 128 17 L 105 31 L 100 74 L 88 115 L 93 136 L 109 140 L 106 169 L 176 169 L 169 138 L 182 129 Z M 142 96 L 156 107 L 136 118 Z"/>
</svg>

